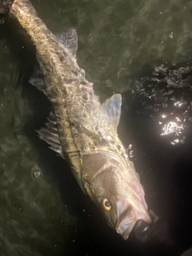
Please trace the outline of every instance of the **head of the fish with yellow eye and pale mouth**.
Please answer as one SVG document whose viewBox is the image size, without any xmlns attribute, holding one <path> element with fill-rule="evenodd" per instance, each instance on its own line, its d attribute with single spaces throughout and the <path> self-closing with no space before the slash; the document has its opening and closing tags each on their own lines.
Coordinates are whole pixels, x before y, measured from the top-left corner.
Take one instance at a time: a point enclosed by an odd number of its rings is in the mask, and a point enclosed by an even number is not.
<svg viewBox="0 0 192 256">
<path fill-rule="evenodd" d="M 134 165 L 127 166 L 123 159 L 108 152 L 90 158 L 95 171 L 86 180 L 86 192 L 102 210 L 108 225 L 126 240 L 138 220 L 151 222 L 138 175 L 128 170 Z"/>
</svg>

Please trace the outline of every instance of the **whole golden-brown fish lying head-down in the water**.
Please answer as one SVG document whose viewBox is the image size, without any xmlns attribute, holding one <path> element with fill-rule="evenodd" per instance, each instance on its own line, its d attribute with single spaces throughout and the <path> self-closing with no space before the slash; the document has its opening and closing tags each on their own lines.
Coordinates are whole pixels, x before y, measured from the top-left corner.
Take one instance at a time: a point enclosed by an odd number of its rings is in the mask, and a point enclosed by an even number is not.
<svg viewBox="0 0 192 256">
<path fill-rule="evenodd" d="M 1 0 L 0 13 L 16 18 L 36 47 L 40 70 L 30 82 L 53 106 L 39 137 L 70 162 L 82 191 L 102 210 L 109 226 L 127 239 L 138 220 L 151 220 L 138 174 L 117 134 L 121 95 L 99 102 L 76 62 L 75 29 L 55 36 L 28 0 Z"/>
</svg>

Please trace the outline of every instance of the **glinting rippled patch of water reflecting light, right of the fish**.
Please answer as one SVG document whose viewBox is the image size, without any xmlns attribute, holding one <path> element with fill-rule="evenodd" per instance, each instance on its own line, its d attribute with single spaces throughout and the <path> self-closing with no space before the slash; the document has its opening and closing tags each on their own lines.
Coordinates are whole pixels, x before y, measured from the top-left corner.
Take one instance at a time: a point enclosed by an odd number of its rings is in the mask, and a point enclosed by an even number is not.
<svg viewBox="0 0 192 256">
<path fill-rule="evenodd" d="M 134 83 L 138 114 L 150 115 L 158 122 L 162 127 L 160 135 L 167 135 L 167 141 L 170 140 L 172 145 L 185 143 L 192 126 L 192 70 L 184 65 L 178 69 L 163 65 L 155 67 L 151 77 L 143 77 Z"/>
</svg>

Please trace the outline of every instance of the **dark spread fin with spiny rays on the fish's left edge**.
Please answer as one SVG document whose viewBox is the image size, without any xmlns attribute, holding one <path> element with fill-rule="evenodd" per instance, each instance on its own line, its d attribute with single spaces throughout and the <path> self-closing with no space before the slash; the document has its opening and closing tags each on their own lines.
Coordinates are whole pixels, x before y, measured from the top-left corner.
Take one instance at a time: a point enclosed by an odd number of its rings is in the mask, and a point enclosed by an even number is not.
<svg viewBox="0 0 192 256">
<path fill-rule="evenodd" d="M 50 112 L 50 117 L 47 118 L 49 122 L 46 122 L 46 127 L 38 130 L 38 137 L 50 145 L 50 149 L 58 152 L 63 156 L 62 146 L 60 144 L 58 136 L 58 127 L 56 123 L 56 117 L 53 112 Z"/>
</svg>

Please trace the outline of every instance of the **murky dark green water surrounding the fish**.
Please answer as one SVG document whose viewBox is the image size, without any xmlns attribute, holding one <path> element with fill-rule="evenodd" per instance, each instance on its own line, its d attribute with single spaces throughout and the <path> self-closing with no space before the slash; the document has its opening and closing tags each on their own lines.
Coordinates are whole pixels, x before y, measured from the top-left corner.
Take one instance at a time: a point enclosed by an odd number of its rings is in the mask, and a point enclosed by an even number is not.
<svg viewBox="0 0 192 256">
<path fill-rule="evenodd" d="M 179 65 L 190 65 L 192 3 L 184 0 L 34 0 L 32 3 L 53 33 L 71 26 L 77 28 L 78 64 L 86 70 L 86 78 L 94 82 L 101 101 L 116 92 L 122 93 L 119 136 L 126 147 L 132 145 L 131 154 L 146 190 L 146 202 L 160 217 L 160 224 L 147 233 L 147 238 L 132 235 L 128 241 L 122 241 L 82 194 L 62 158 L 38 139 L 35 130 L 46 122 L 50 103 L 28 82 L 34 66 L 34 47 L 15 22 L 2 17 L 0 254 L 182 254 L 192 246 L 190 122 L 185 130 L 186 143 L 171 144 L 175 134 L 161 136 L 162 126 L 158 124 L 160 114 L 170 113 L 171 94 L 162 95 L 161 84 L 156 84 L 158 102 L 167 103 L 162 107 L 166 112 L 162 113 L 153 105 L 155 101 L 151 103 L 152 110 L 147 110 L 142 105 L 146 98 L 134 98 L 132 90 L 135 81 L 145 76 L 154 78 L 155 66 L 163 64 L 169 69 L 177 64 L 178 69 Z M 166 90 L 174 90 L 178 98 L 185 90 L 187 104 L 190 103 L 189 87 Z M 144 92 L 148 92 L 146 87 Z M 181 116 L 183 111 L 179 112 Z"/>
</svg>

